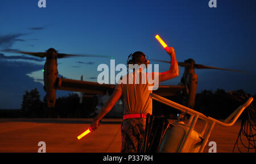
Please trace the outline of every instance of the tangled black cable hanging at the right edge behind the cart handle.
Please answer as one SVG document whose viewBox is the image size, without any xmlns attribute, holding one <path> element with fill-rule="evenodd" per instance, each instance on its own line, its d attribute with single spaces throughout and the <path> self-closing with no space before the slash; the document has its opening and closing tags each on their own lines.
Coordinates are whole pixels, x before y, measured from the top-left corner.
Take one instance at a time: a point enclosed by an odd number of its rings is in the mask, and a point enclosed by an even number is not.
<svg viewBox="0 0 256 164">
<path fill-rule="evenodd" d="M 249 95 L 246 94 L 243 90 L 238 91 L 230 91 L 229 94 L 232 96 L 233 99 L 237 100 L 240 103 L 245 103 L 247 99 L 250 98 Z M 250 152 L 250 150 L 254 149 L 254 152 L 256 152 L 256 146 L 255 146 L 255 129 L 256 129 L 256 112 L 255 107 L 253 106 L 253 103 L 251 103 L 245 111 L 241 115 L 241 128 L 237 136 L 237 140 L 233 147 L 233 152 L 237 148 L 237 150 L 241 153 L 240 149 L 240 143 L 244 148 L 247 149 L 247 152 Z M 242 137 L 245 137 L 248 143 L 244 143 L 242 141 Z"/>
</svg>

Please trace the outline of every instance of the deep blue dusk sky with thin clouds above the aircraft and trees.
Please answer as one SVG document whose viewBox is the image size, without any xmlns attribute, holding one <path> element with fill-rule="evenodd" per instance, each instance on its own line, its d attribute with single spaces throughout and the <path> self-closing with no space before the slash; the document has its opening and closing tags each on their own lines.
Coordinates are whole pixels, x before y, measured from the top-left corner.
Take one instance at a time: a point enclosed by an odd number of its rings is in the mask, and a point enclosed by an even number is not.
<svg viewBox="0 0 256 164">
<path fill-rule="evenodd" d="M 84 1 L 37 0 L 0 2 L 0 49 L 113 56 L 115 65 L 126 64 L 127 56 L 142 51 L 148 59 L 170 60 L 156 41 L 160 37 L 174 47 L 177 61 L 193 58 L 197 64 L 237 69 L 247 73 L 197 69 L 197 92 L 242 89 L 256 93 L 256 1 L 217 0 Z M 58 60 L 59 74 L 86 81 L 97 80 L 97 66 L 110 65 L 109 58 L 73 57 Z M 24 91 L 43 91 L 44 60 L 0 52 L 0 109 L 17 109 Z M 170 64 L 160 64 L 160 72 Z M 179 77 L 162 85 L 177 85 Z M 118 73 L 118 72 L 117 72 Z M 117 74 L 116 73 L 116 74 Z M 68 91 L 57 91 L 67 95 Z"/>
</svg>

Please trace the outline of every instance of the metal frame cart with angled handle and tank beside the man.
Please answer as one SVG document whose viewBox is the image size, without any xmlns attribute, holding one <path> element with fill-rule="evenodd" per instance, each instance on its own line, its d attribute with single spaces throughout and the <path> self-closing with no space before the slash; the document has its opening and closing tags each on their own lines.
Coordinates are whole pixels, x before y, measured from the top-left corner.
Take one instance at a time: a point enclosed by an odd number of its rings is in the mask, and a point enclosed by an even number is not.
<svg viewBox="0 0 256 164">
<path fill-rule="evenodd" d="M 167 106 L 171 106 L 173 108 L 176 108 L 177 110 L 180 110 L 181 112 L 185 112 L 188 115 L 190 115 L 187 123 L 184 123 L 183 121 L 177 121 L 174 124 L 170 123 L 167 126 L 165 125 L 164 130 L 162 128 L 162 131 L 155 132 L 155 133 L 158 133 L 156 134 L 156 136 L 158 136 L 158 141 L 157 141 L 158 148 L 156 150 L 157 152 L 165 152 L 165 153 L 170 153 L 170 152 L 179 152 L 179 153 L 200 152 L 201 153 L 203 152 L 214 125 L 219 124 L 224 127 L 231 127 L 232 125 L 234 125 L 234 123 L 236 123 L 238 117 L 245 110 L 245 108 L 249 106 L 251 102 L 253 102 L 253 98 L 252 97 L 249 98 L 248 100 L 246 100 L 245 103 L 243 103 L 240 107 L 238 107 L 237 110 L 234 111 L 224 121 L 220 121 L 220 120 L 213 119 L 212 117 L 209 117 L 209 116 L 207 117 L 203 113 L 200 113 L 195 110 L 192 110 L 191 108 L 182 106 L 181 104 L 172 102 L 171 100 L 163 98 L 162 96 L 159 96 L 156 94 L 150 94 L 150 96 L 152 99 L 160 103 L 166 104 Z M 204 127 L 201 129 L 201 132 L 197 132 L 195 129 L 195 125 L 199 119 L 204 121 Z M 160 126 L 163 126 L 164 121 L 160 121 L 160 122 L 162 123 L 162 125 Z M 148 128 L 148 125 L 146 125 L 146 133 L 147 134 L 145 135 L 144 145 L 142 147 L 141 152 L 147 152 L 146 151 L 148 146 L 147 135 L 152 133 L 152 130 Z"/>
</svg>

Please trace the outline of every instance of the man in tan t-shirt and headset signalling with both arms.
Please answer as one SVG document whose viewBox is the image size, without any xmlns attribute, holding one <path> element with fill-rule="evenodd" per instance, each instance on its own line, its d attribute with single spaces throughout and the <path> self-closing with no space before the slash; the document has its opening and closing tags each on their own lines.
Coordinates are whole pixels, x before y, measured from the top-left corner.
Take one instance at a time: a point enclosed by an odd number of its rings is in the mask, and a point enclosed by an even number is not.
<svg viewBox="0 0 256 164">
<path fill-rule="evenodd" d="M 175 56 L 174 48 L 166 47 L 166 52 L 171 56 L 170 69 L 163 73 L 152 73 L 152 77 L 158 77 L 157 82 L 167 81 L 179 75 L 179 68 Z M 129 56 L 130 57 L 130 56 Z M 132 59 L 127 64 L 149 64 L 143 52 L 135 52 Z M 94 118 L 90 127 L 95 130 L 100 124 L 100 120 L 113 108 L 117 100 L 123 95 L 124 115 L 122 123 L 122 148 L 121 153 L 139 152 L 143 144 L 144 130 L 146 125 L 147 113 L 152 114 L 152 99 L 150 98 L 150 83 L 137 83 L 138 78 L 150 73 L 144 73 L 143 69 L 138 69 L 122 77 L 115 87 L 113 95 L 104 104 L 104 107 Z M 133 80 L 130 83 L 129 79 Z M 129 82 L 128 82 L 129 81 Z M 142 80 L 143 81 L 143 80 Z"/>
</svg>

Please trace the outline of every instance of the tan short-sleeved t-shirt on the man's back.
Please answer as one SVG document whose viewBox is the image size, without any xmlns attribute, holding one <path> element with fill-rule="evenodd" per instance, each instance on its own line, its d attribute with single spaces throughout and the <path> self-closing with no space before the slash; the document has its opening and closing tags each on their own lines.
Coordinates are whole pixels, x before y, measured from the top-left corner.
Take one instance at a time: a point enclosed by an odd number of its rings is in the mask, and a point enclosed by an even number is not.
<svg viewBox="0 0 256 164">
<path fill-rule="evenodd" d="M 150 94 L 154 85 L 158 87 L 159 78 L 156 78 L 156 75 L 158 77 L 158 73 L 154 73 L 154 83 L 152 83 L 153 81 L 148 81 L 148 73 L 144 72 L 138 74 L 129 73 L 118 81 L 115 89 L 122 91 L 124 115 L 133 113 L 152 114 L 152 99 L 150 98 Z"/>
</svg>

